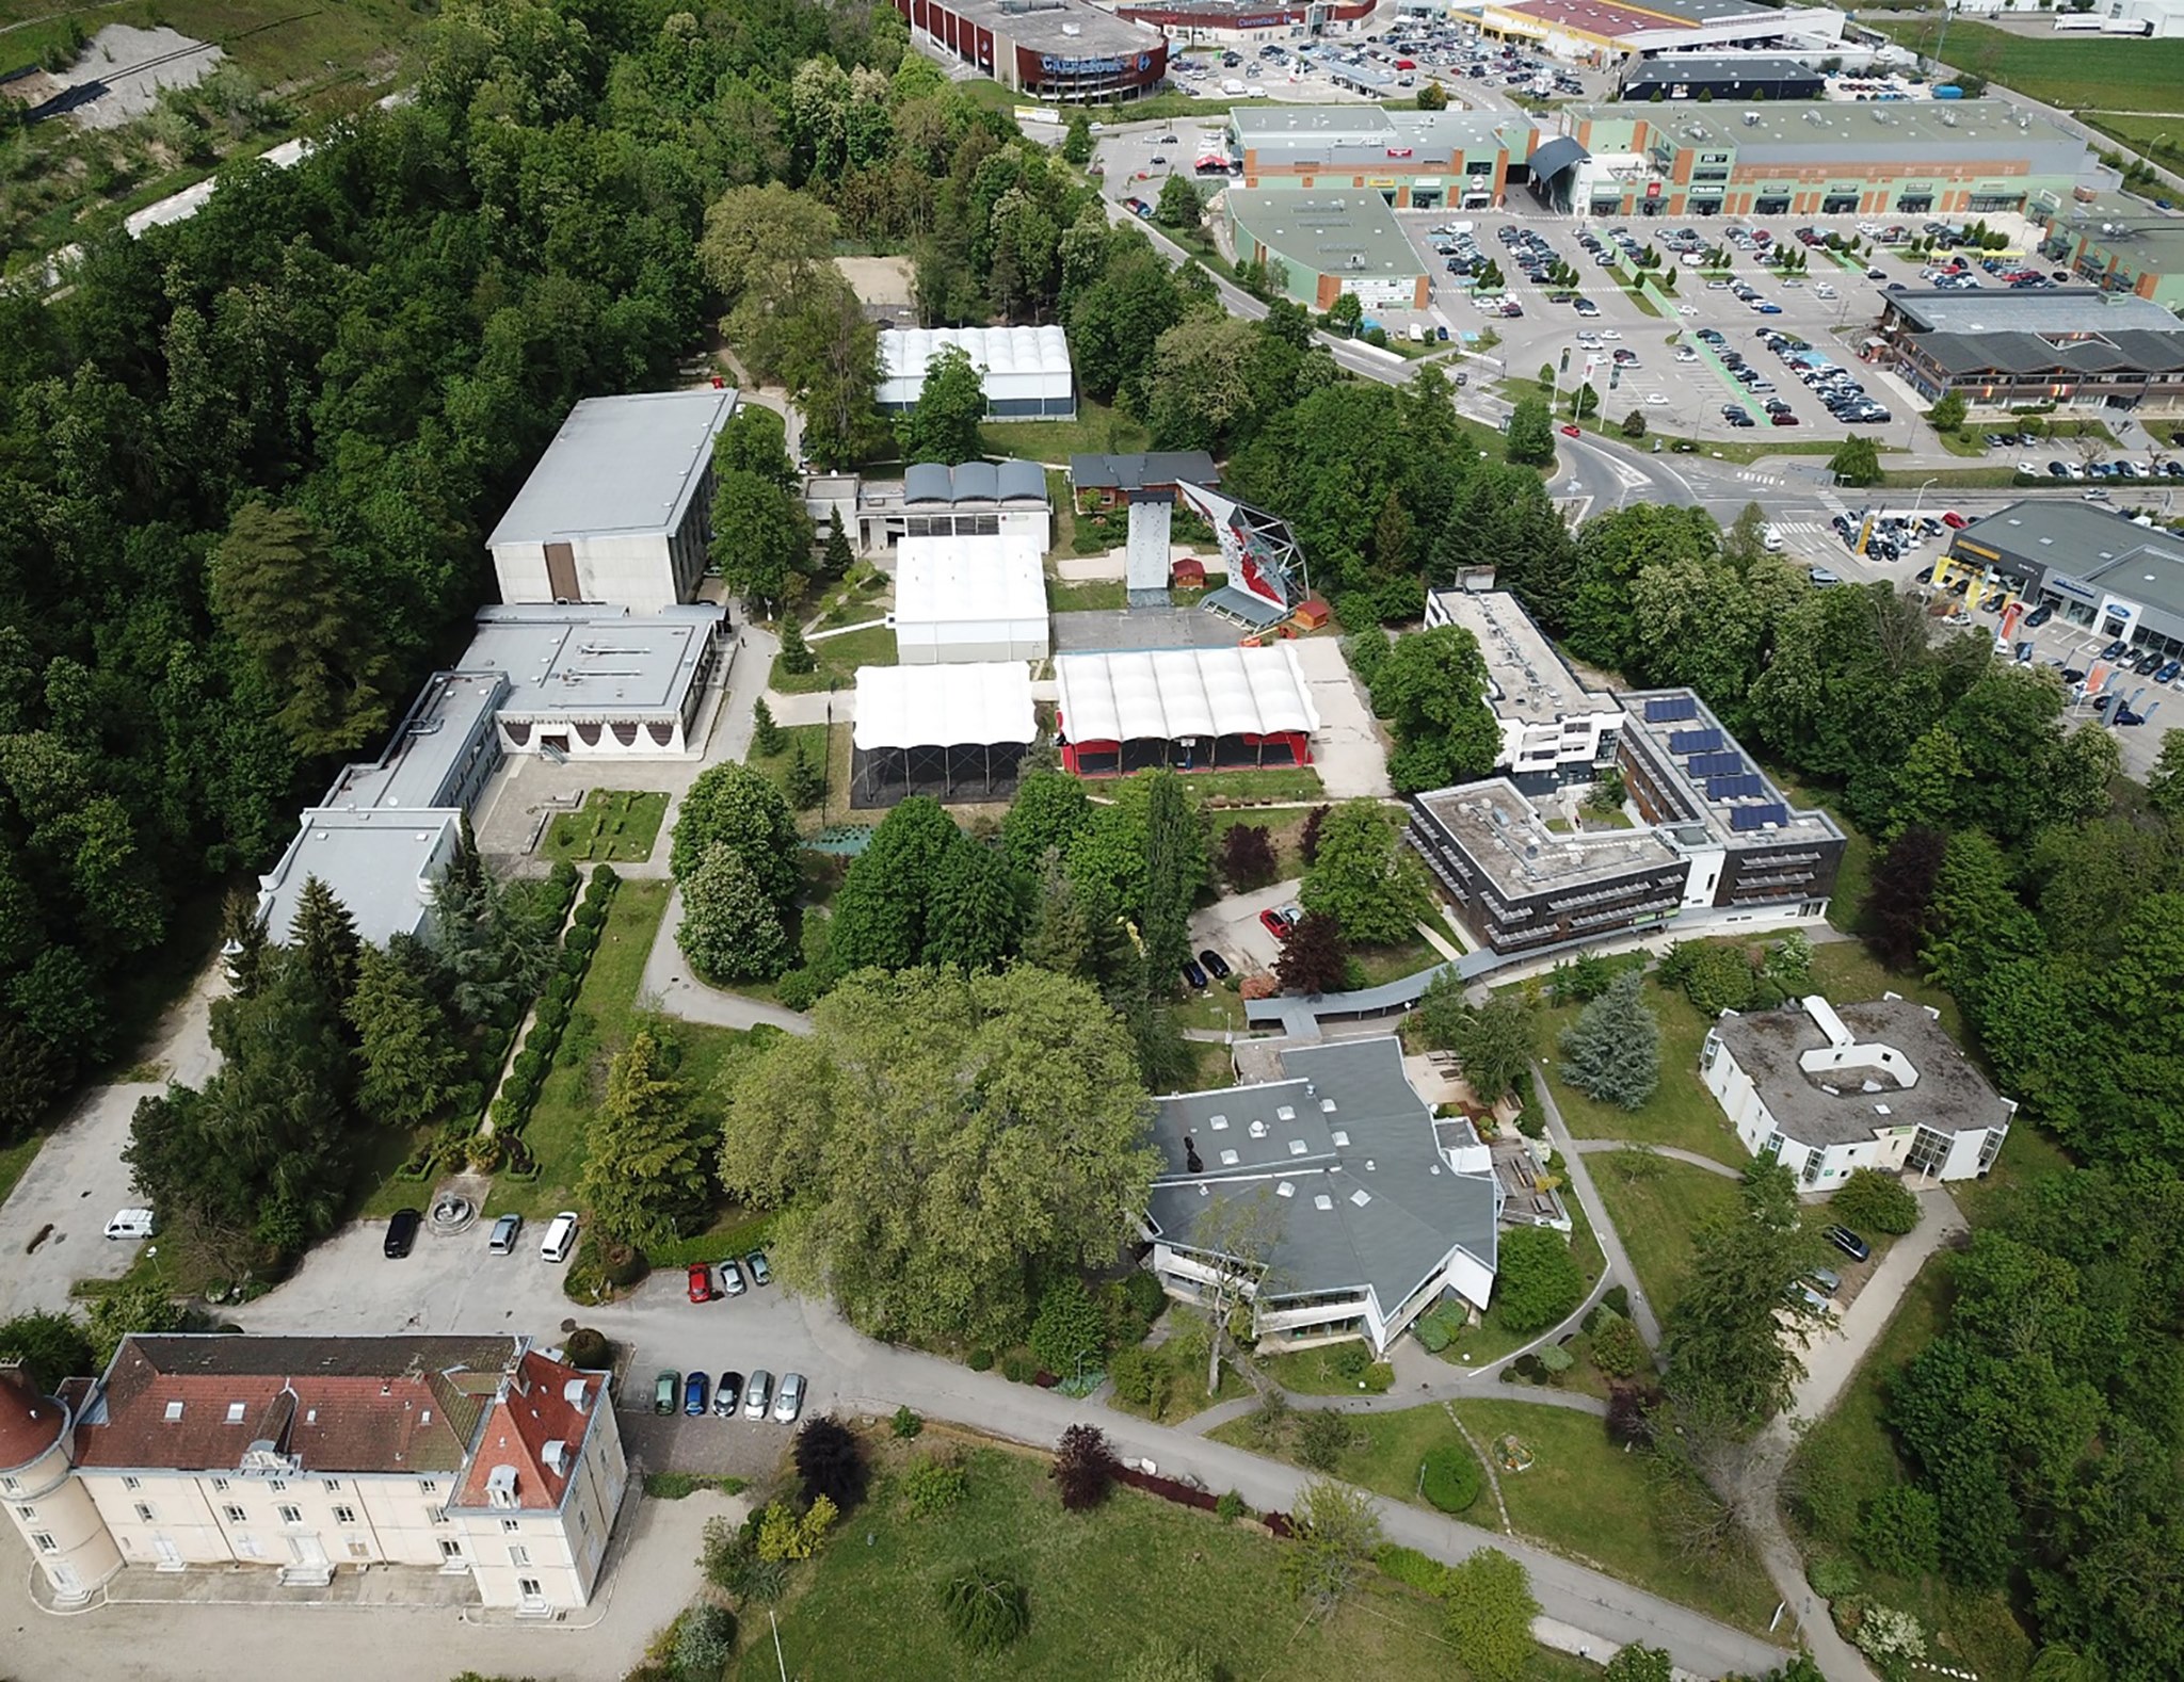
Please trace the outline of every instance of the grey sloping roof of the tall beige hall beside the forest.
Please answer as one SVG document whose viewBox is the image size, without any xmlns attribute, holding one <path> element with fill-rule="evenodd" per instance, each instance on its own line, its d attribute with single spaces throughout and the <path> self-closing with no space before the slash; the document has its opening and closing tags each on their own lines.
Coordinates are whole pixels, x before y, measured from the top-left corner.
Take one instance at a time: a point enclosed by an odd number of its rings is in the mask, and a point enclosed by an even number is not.
<svg viewBox="0 0 2184 1682">
<path fill-rule="evenodd" d="M 487 545 L 570 543 L 583 537 L 673 532 L 736 412 L 734 388 L 585 397 Z"/>
</svg>

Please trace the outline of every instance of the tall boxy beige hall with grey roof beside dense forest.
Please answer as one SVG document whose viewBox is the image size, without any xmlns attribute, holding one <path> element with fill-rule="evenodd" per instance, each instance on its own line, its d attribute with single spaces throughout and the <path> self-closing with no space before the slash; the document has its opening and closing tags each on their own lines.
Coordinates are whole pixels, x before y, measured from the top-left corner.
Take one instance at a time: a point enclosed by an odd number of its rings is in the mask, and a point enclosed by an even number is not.
<svg viewBox="0 0 2184 1682">
<path fill-rule="evenodd" d="M 688 602 L 712 543 L 712 443 L 736 393 L 585 397 L 487 548 L 502 602 Z"/>
</svg>

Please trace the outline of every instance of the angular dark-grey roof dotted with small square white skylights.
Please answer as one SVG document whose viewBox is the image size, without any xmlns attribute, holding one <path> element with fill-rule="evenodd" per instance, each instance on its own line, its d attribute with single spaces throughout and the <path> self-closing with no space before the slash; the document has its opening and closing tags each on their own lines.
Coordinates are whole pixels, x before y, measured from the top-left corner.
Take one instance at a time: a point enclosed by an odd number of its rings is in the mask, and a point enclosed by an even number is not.
<svg viewBox="0 0 2184 1682">
<path fill-rule="evenodd" d="M 1149 1213 L 1162 1241 L 1188 1250 L 1203 1211 L 1273 1193 L 1282 1230 L 1269 1300 L 1372 1285 L 1393 1313 L 1452 1250 L 1496 1265 L 1500 1187 L 1492 1174 L 1448 1165 L 1393 1038 L 1291 1047 L 1282 1071 L 1286 1080 L 1155 1104 L 1153 1143 L 1166 1169 Z M 1203 1174 L 1188 1172 L 1186 1134 Z"/>
</svg>

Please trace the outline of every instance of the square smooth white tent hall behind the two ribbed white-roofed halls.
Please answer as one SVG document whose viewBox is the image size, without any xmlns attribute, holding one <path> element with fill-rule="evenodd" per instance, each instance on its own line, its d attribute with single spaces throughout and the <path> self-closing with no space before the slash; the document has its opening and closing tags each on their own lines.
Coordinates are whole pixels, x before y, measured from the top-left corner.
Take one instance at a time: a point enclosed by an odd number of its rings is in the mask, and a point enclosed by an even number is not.
<svg viewBox="0 0 2184 1682">
<path fill-rule="evenodd" d="M 895 659 L 904 665 L 1035 661 L 1046 574 L 1033 537 L 904 537 L 895 545 Z"/>
</svg>

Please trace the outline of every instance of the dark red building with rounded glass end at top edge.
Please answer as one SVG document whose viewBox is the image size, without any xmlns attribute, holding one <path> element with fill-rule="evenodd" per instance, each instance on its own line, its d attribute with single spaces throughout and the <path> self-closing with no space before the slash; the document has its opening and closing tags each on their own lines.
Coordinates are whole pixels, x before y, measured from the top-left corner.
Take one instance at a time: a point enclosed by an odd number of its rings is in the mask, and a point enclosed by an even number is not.
<svg viewBox="0 0 2184 1682">
<path fill-rule="evenodd" d="M 911 39 L 941 59 L 1061 105 L 1147 98 L 1168 37 L 1083 0 L 895 0 Z"/>
</svg>

